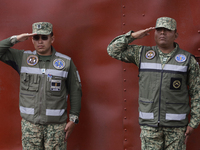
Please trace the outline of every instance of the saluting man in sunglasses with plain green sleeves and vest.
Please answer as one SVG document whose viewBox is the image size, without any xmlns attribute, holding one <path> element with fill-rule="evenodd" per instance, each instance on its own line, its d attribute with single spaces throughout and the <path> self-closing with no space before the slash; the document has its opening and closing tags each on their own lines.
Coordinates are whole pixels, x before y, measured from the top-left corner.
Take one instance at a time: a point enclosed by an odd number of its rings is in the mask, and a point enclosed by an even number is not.
<svg viewBox="0 0 200 150">
<path fill-rule="evenodd" d="M 0 42 L 0 60 L 20 74 L 22 146 L 24 150 L 66 150 L 67 138 L 79 121 L 80 77 L 72 59 L 53 48 L 52 24 L 37 22 L 32 29 L 30 34 L 15 35 Z M 30 37 L 35 51 L 11 48 Z"/>
</svg>

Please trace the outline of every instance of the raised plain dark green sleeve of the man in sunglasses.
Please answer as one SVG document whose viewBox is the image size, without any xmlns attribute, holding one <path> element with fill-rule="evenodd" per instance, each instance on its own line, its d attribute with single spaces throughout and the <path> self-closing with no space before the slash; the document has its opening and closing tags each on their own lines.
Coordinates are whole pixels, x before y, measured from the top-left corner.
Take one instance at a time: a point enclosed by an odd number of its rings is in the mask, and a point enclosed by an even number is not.
<svg viewBox="0 0 200 150">
<path fill-rule="evenodd" d="M 19 73 L 23 51 L 11 48 L 13 45 L 10 37 L 0 41 L 0 61 L 10 65 Z"/>
</svg>

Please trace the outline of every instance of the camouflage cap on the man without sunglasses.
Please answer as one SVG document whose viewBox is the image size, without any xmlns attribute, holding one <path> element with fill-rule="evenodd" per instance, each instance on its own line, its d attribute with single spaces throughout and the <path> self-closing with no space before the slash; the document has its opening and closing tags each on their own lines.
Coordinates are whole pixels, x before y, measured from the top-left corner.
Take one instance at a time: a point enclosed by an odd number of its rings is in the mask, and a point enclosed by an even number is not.
<svg viewBox="0 0 200 150">
<path fill-rule="evenodd" d="M 174 31 L 176 29 L 176 20 L 169 17 L 158 18 L 155 28 L 167 28 Z"/>
</svg>

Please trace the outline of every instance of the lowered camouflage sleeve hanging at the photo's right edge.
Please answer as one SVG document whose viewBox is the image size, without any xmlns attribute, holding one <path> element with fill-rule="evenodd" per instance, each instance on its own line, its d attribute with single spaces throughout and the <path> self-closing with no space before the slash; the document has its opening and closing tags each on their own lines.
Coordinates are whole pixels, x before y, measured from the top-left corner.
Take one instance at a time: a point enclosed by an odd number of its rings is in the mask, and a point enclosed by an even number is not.
<svg viewBox="0 0 200 150">
<path fill-rule="evenodd" d="M 191 97 L 191 118 L 189 126 L 197 128 L 200 123 L 200 77 L 199 77 L 199 65 L 192 56 L 189 65 L 189 94 Z"/>
</svg>

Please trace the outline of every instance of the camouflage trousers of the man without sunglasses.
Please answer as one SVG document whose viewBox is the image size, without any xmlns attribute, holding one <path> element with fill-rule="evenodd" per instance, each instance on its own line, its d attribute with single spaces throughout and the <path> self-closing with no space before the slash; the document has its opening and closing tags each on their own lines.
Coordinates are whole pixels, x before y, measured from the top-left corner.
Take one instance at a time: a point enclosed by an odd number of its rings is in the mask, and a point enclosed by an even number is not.
<svg viewBox="0 0 200 150">
<path fill-rule="evenodd" d="M 148 127 L 141 126 L 142 150 L 185 150 L 186 127 Z"/>
</svg>

